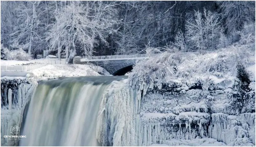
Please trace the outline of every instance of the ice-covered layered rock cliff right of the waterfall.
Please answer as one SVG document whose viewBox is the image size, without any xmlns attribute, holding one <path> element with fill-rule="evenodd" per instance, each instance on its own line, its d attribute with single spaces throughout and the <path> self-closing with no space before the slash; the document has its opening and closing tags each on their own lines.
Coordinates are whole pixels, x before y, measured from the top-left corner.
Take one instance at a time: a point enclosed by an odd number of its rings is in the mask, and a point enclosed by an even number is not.
<svg viewBox="0 0 256 147">
<path fill-rule="evenodd" d="M 112 83 L 103 95 L 97 139 L 104 146 L 255 144 L 255 113 L 237 116 L 231 81 L 215 80 L 202 89 L 178 82 L 167 94 L 146 95 L 126 83 Z"/>
</svg>

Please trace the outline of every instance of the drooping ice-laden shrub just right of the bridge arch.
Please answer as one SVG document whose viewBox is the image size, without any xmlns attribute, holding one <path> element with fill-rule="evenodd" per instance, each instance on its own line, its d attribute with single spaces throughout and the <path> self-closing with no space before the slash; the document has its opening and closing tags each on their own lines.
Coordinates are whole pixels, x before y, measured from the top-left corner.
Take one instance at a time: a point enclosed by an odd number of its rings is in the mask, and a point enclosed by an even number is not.
<svg viewBox="0 0 256 147">
<path fill-rule="evenodd" d="M 144 90 L 144 94 L 154 86 L 161 89 L 164 79 L 174 76 L 177 72 L 177 65 L 172 57 L 165 52 L 159 57 L 137 63 L 129 74 L 129 84 L 133 88 Z"/>
</svg>

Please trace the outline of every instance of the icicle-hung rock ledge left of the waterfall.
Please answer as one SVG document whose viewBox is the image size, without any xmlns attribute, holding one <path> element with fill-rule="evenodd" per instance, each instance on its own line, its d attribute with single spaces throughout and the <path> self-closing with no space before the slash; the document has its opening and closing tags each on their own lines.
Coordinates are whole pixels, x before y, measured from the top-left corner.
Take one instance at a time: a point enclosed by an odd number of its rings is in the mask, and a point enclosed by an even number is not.
<svg viewBox="0 0 256 147">
<path fill-rule="evenodd" d="M 10 128 L 13 125 L 22 128 L 23 113 L 36 85 L 36 82 L 26 79 L 1 79 L 1 145 L 18 145 L 18 140 L 4 138 L 4 135 L 12 135 Z"/>
</svg>

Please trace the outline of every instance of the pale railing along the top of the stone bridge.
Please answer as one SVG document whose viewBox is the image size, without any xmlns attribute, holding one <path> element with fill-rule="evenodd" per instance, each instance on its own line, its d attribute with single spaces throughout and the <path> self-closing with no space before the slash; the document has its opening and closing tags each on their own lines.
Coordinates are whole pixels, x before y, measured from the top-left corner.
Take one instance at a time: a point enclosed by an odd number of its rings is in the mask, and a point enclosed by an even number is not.
<svg viewBox="0 0 256 147">
<path fill-rule="evenodd" d="M 103 59 L 122 59 L 122 58 L 144 58 L 144 57 L 156 57 L 160 54 L 136 54 L 136 55 L 112 55 L 112 56 L 90 56 L 81 57 L 83 60 L 103 60 Z"/>
</svg>

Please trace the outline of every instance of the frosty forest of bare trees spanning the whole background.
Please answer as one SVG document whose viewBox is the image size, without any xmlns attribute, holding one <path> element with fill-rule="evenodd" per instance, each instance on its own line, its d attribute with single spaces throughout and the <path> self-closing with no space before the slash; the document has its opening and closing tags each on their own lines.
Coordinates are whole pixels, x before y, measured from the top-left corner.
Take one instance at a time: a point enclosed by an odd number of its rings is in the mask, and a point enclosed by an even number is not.
<svg viewBox="0 0 256 147">
<path fill-rule="evenodd" d="M 1 59 L 204 52 L 248 33 L 255 1 L 1 1 Z"/>
</svg>

